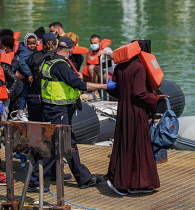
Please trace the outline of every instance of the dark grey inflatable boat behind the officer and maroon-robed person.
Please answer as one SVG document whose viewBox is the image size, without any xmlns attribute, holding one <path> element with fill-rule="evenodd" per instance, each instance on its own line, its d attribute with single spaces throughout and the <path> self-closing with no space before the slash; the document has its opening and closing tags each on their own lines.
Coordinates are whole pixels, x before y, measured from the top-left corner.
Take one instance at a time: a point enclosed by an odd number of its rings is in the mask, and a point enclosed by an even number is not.
<svg viewBox="0 0 195 210">
<path fill-rule="evenodd" d="M 163 80 L 157 94 L 169 95 L 171 107 L 177 117 L 180 117 L 185 106 L 181 88 L 172 81 Z M 109 100 L 82 102 L 82 111 L 77 110 L 72 120 L 77 143 L 103 145 L 113 143 L 118 103 L 115 96 L 113 93 Z M 165 110 L 166 103 L 160 102 L 157 112 L 164 113 Z"/>
</svg>

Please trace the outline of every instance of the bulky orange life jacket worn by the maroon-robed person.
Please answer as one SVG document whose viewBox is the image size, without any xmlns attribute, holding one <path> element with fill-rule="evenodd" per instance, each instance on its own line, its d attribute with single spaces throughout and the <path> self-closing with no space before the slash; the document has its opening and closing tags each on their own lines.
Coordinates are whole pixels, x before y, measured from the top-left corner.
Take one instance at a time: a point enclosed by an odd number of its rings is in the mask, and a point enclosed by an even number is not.
<svg viewBox="0 0 195 210">
<path fill-rule="evenodd" d="M 139 42 L 119 47 L 113 51 L 114 63 L 124 63 L 129 61 L 134 56 L 138 55 L 140 62 L 145 66 L 147 73 L 147 80 L 152 89 L 156 91 L 164 78 L 164 74 L 158 64 L 156 57 L 144 51 L 141 51 Z"/>
</svg>

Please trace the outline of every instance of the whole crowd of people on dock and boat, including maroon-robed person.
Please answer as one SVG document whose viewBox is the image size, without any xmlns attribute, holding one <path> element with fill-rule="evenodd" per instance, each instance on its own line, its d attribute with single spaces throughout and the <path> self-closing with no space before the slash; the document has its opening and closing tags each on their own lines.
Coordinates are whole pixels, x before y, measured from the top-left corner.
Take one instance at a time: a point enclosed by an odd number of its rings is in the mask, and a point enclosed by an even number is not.
<svg viewBox="0 0 195 210">
<path fill-rule="evenodd" d="M 118 114 L 113 152 L 105 176 L 108 186 L 119 195 L 152 192 L 160 186 L 156 163 L 149 139 L 148 109 L 153 108 L 164 96 L 157 96 L 148 89 L 146 71 L 134 57 L 115 67 L 112 43 L 101 40 L 99 35 L 90 37 L 90 49 L 78 44 L 78 36 L 66 33 L 63 25 L 53 22 L 50 32 L 43 27 L 27 33 L 23 42 L 11 29 L 0 31 L 0 59 L 5 73 L 8 99 L 0 101 L 3 121 L 12 117 L 27 122 L 51 122 L 71 125 L 73 113 L 80 108 L 82 93 L 99 99 L 98 90 L 115 90 L 118 93 Z M 86 54 L 84 62 L 83 54 Z M 100 84 L 100 56 L 108 56 L 108 74 L 105 71 Z M 2 56 L 3 55 L 3 56 Z M 6 56 L 5 56 L 6 55 Z M 2 57 L 6 59 L 2 60 Z M 114 73 L 113 69 L 115 67 Z M 103 60 L 105 68 L 105 60 Z M 1 98 L 0 98 L 1 99 Z M 78 186 L 81 189 L 95 186 L 100 180 L 80 162 L 74 133 L 71 133 L 72 158 L 67 158 Z M 44 157 L 44 176 L 56 180 L 55 156 Z M 0 176 L 3 176 L 2 174 Z M 29 192 L 38 192 L 38 160 L 35 161 Z M 64 179 L 70 179 L 64 174 Z M 1 181 L 6 184 L 6 181 Z"/>
</svg>

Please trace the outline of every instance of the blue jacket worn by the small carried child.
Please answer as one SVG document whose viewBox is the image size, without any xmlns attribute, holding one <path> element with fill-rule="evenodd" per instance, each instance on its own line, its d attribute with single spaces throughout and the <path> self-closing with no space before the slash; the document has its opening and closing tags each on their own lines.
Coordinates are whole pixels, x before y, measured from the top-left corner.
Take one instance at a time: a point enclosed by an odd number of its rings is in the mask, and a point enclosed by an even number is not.
<svg viewBox="0 0 195 210">
<path fill-rule="evenodd" d="M 19 55 L 19 69 L 20 74 L 24 76 L 31 76 L 32 72 L 29 66 L 26 63 L 26 60 L 34 53 L 37 52 L 37 49 L 34 51 L 29 50 L 23 42 L 20 42 L 17 54 Z"/>
</svg>

